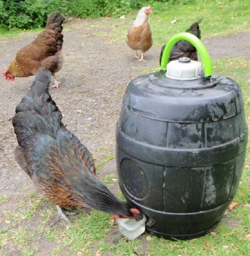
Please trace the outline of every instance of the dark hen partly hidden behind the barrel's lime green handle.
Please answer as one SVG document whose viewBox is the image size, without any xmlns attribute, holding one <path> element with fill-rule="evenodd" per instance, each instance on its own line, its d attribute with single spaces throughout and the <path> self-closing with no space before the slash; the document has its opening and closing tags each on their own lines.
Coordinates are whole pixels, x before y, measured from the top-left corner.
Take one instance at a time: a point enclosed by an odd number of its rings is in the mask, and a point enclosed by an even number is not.
<svg viewBox="0 0 250 256">
<path fill-rule="evenodd" d="M 202 19 L 196 21 L 194 24 L 192 24 L 190 26 L 189 29 L 186 30 L 186 32 L 192 33 L 196 37 L 201 39 L 201 30 L 199 28 L 199 24 L 201 22 L 202 22 Z M 163 45 L 162 49 L 161 49 L 160 65 L 162 62 L 162 54 L 164 52 L 165 46 L 166 45 Z M 169 62 L 174 61 L 174 60 L 179 60 L 179 58 L 181 58 L 181 57 L 188 57 L 194 61 L 198 60 L 196 48 L 192 44 L 190 44 L 190 42 L 188 42 L 186 40 L 180 40 L 174 45 L 174 47 L 170 53 Z"/>
</svg>

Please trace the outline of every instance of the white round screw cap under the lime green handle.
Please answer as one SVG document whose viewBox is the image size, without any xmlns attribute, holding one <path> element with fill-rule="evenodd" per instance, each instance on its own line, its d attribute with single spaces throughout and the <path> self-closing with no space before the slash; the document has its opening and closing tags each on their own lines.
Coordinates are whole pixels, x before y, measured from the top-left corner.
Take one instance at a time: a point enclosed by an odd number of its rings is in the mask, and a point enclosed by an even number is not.
<svg viewBox="0 0 250 256">
<path fill-rule="evenodd" d="M 176 80 L 198 79 L 201 73 L 201 62 L 182 57 L 167 64 L 166 77 Z"/>
</svg>

